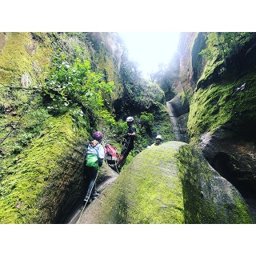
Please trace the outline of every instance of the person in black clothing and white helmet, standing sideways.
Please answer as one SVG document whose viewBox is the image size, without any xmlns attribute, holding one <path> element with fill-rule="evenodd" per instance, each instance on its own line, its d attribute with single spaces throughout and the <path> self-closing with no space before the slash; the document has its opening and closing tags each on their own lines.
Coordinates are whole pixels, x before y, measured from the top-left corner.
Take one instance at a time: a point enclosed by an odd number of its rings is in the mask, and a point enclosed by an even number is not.
<svg viewBox="0 0 256 256">
<path fill-rule="evenodd" d="M 122 166 L 126 163 L 126 158 L 131 150 L 134 149 L 134 139 L 136 136 L 136 129 L 134 127 L 134 118 L 128 117 L 126 118 L 128 130 L 126 135 L 124 136 L 125 142 L 122 146 L 121 155 L 117 162 L 118 170 L 122 169 Z"/>
</svg>

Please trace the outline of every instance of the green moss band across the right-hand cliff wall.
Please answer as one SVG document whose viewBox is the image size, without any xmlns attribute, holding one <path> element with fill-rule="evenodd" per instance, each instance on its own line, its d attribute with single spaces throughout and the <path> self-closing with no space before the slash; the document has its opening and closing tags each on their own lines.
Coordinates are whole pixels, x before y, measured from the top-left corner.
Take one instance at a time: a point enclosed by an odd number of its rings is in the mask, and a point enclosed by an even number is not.
<svg viewBox="0 0 256 256">
<path fill-rule="evenodd" d="M 235 89 L 246 84 L 246 89 Z M 256 76 L 246 75 L 236 82 L 213 84 L 200 88 L 190 105 L 188 133 L 191 142 L 206 132 L 214 131 L 228 122 L 235 124 L 256 120 Z"/>
</svg>

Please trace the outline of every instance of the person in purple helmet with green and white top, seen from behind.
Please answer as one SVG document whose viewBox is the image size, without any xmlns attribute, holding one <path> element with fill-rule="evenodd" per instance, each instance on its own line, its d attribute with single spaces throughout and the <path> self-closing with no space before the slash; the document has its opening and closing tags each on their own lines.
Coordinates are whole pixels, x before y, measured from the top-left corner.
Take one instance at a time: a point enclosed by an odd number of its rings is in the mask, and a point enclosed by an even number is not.
<svg viewBox="0 0 256 256">
<path fill-rule="evenodd" d="M 96 178 L 98 175 L 98 168 L 102 166 L 105 157 L 104 148 L 101 144 L 103 138 L 102 133 L 100 131 L 95 131 L 93 138 L 94 140 L 89 143 L 86 152 L 85 172 L 88 188 L 84 202 L 92 202 L 93 199 L 97 198 L 99 195 L 96 191 Z"/>
</svg>

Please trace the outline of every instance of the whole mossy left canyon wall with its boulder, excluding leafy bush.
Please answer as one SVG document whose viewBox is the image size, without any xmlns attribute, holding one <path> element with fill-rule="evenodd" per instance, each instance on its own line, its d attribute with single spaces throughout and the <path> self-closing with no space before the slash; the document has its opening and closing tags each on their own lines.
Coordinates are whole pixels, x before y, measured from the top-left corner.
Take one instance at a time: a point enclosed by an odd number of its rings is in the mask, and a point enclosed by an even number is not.
<svg viewBox="0 0 256 256">
<path fill-rule="evenodd" d="M 111 52 L 114 40 L 106 45 L 100 38 L 97 51 L 87 35 L 0 33 L 1 223 L 59 222 L 84 193 L 85 144 L 99 120 L 68 107 L 58 115 L 50 112 L 40 88 L 54 53 L 62 53 L 69 62 L 86 59 L 106 81 L 118 81 L 117 56 Z M 114 99 L 122 96 L 121 87 L 119 82 Z M 110 101 L 104 100 L 111 110 Z"/>
</svg>

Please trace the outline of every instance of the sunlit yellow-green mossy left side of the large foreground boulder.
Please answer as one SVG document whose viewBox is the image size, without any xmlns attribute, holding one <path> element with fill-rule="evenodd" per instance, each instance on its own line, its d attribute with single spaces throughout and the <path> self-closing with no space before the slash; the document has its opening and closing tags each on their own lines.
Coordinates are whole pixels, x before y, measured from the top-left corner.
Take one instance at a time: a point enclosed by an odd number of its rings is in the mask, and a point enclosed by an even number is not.
<svg viewBox="0 0 256 256">
<path fill-rule="evenodd" d="M 109 189 L 98 222 L 184 223 L 182 184 L 173 160 L 181 144 L 138 154 Z"/>
</svg>

